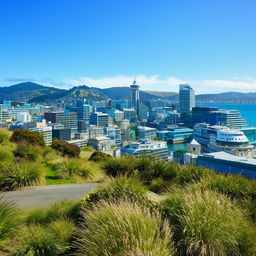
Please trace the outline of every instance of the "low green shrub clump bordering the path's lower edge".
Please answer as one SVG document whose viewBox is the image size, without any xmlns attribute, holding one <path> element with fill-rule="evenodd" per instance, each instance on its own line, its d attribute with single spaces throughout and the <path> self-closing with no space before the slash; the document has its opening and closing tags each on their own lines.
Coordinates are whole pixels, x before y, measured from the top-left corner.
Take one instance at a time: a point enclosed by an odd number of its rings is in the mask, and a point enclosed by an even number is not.
<svg viewBox="0 0 256 256">
<path fill-rule="evenodd" d="M 49 224 L 57 220 L 76 220 L 80 205 L 73 201 L 60 201 L 45 208 L 30 211 L 24 219 L 26 224 Z"/>
</svg>

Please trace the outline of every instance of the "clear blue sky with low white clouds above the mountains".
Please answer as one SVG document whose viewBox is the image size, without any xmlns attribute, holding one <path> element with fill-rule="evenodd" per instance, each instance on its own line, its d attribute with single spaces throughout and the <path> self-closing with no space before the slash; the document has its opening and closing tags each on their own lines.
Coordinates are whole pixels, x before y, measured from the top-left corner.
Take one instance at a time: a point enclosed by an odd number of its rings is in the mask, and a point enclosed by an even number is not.
<svg viewBox="0 0 256 256">
<path fill-rule="evenodd" d="M 255 0 L 1 0 L 0 85 L 256 89 Z"/>
</svg>

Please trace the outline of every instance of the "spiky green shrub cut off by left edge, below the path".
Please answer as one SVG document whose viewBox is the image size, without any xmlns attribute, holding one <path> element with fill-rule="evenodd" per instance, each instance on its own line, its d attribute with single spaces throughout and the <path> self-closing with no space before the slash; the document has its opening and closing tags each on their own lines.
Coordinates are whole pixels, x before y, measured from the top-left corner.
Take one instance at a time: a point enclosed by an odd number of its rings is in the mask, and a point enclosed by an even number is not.
<svg viewBox="0 0 256 256">
<path fill-rule="evenodd" d="M 16 233 L 19 217 L 15 205 L 0 197 L 0 247 Z"/>
</svg>

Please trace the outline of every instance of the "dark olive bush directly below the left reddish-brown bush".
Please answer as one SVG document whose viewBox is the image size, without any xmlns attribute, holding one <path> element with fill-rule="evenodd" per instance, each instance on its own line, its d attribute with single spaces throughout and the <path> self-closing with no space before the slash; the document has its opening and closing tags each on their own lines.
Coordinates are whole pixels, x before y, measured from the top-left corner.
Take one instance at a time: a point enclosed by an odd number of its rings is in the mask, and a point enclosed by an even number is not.
<svg viewBox="0 0 256 256">
<path fill-rule="evenodd" d="M 14 150 L 14 155 L 17 159 L 38 161 L 42 159 L 43 150 L 41 147 L 31 144 L 18 144 Z"/>
</svg>

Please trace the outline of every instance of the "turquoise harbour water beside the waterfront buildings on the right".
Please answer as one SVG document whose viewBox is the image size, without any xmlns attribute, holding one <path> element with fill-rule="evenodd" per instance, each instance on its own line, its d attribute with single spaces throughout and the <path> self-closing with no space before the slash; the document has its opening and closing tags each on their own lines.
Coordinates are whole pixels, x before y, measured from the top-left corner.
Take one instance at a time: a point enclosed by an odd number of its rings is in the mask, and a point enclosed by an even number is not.
<svg viewBox="0 0 256 256">
<path fill-rule="evenodd" d="M 256 104 L 255 105 L 236 105 L 236 104 L 218 104 L 218 103 L 205 103 L 197 104 L 198 107 L 217 107 L 219 109 L 227 110 L 238 110 L 241 116 L 246 120 L 248 127 L 256 126 Z M 169 152 L 174 152 L 177 150 L 186 150 L 187 144 L 169 144 Z"/>
</svg>

